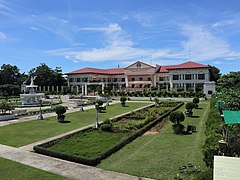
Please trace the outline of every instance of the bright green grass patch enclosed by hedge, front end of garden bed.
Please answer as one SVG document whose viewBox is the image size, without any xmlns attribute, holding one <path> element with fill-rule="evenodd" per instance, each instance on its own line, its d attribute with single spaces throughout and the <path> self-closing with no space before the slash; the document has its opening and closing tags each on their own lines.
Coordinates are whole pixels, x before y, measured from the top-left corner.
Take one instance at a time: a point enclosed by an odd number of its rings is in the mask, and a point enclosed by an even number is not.
<svg viewBox="0 0 240 180">
<path fill-rule="evenodd" d="M 89 130 L 84 133 L 79 133 L 69 139 L 63 139 L 57 144 L 49 147 L 49 149 L 71 155 L 95 157 L 111 148 L 129 134 L 130 133 L 111 133 L 100 130 Z"/>
</svg>

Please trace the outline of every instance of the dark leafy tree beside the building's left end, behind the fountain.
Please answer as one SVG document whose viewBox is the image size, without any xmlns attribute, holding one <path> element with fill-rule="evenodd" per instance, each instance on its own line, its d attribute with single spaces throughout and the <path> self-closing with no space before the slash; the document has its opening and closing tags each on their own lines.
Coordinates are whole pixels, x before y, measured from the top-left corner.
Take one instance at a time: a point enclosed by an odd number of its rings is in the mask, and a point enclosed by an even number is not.
<svg viewBox="0 0 240 180">
<path fill-rule="evenodd" d="M 55 70 L 48 67 L 46 64 L 33 68 L 29 71 L 30 76 L 37 76 L 34 83 L 39 86 L 63 86 L 66 85 L 66 79 L 63 77 L 60 67 Z"/>
</svg>

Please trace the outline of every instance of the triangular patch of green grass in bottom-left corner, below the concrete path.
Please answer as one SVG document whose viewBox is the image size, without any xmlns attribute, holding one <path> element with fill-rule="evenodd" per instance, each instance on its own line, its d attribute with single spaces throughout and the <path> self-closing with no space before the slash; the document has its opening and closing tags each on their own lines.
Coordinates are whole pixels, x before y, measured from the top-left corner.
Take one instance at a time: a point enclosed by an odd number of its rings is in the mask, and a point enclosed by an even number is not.
<svg viewBox="0 0 240 180">
<path fill-rule="evenodd" d="M 4 158 L 0 158 L 0 174 L 2 180 L 63 180 L 67 179 L 62 176 L 42 171 L 30 166 L 26 166 L 17 162 L 13 162 Z"/>
</svg>

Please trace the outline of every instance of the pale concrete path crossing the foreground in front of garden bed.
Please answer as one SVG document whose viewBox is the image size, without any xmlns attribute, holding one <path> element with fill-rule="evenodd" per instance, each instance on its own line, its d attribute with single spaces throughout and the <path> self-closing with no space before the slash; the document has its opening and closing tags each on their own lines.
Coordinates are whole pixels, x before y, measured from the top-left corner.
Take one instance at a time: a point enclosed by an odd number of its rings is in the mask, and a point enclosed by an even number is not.
<svg viewBox="0 0 240 180">
<path fill-rule="evenodd" d="M 0 157 L 76 180 L 138 180 L 138 177 L 85 166 L 0 144 Z"/>
</svg>

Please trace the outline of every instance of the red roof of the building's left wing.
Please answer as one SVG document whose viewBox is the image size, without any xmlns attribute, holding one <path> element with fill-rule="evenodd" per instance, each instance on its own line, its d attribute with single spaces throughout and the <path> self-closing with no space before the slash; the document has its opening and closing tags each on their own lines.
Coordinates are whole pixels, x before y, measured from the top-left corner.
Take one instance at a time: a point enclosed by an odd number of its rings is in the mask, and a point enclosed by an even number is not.
<svg viewBox="0 0 240 180">
<path fill-rule="evenodd" d="M 108 74 L 108 75 L 117 75 L 124 74 L 124 68 L 111 68 L 111 69 L 97 69 L 97 68 L 83 68 L 76 71 L 66 73 L 70 74 Z"/>
</svg>

